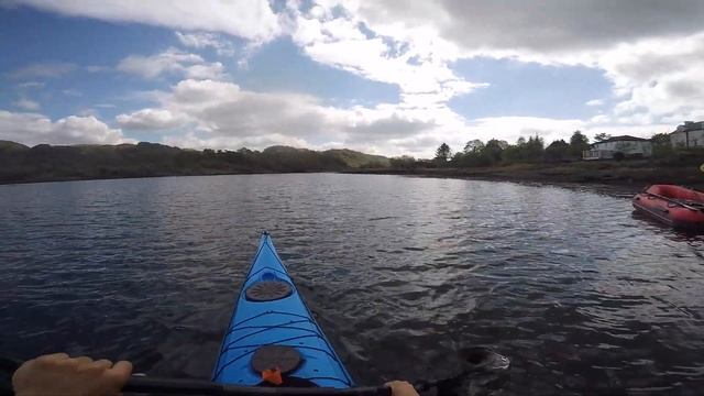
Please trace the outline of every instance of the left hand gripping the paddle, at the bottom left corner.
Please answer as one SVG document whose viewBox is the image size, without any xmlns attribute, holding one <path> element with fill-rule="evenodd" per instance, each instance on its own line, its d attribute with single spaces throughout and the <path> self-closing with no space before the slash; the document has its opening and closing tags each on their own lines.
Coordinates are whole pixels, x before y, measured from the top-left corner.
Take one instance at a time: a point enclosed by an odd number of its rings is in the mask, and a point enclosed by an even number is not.
<svg viewBox="0 0 704 396">
<path fill-rule="evenodd" d="M 132 363 L 54 353 L 24 362 L 12 375 L 15 396 L 119 395 L 132 374 Z"/>
</svg>

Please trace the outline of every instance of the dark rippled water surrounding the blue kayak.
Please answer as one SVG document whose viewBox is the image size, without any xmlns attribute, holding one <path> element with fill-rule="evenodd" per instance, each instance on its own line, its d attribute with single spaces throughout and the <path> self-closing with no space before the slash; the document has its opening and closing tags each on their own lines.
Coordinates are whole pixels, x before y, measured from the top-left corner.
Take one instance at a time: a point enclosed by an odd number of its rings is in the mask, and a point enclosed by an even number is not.
<svg viewBox="0 0 704 396">
<path fill-rule="evenodd" d="M 469 393 L 698 394 L 704 239 L 579 189 L 365 175 L 0 186 L 0 350 L 207 378 L 267 229 L 361 384 L 512 359 Z"/>
</svg>

